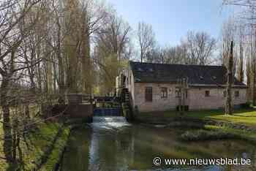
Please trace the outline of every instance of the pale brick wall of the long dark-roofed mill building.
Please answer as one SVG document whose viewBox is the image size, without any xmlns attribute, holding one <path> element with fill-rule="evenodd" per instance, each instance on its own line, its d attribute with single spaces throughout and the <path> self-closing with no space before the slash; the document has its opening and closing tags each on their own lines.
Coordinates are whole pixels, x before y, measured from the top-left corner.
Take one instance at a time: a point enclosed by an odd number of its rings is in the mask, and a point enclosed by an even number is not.
<svg viewBox="0 0 256 171">
<path fill-rule="evenodd" d="M 175 84 L 167 83 L 134 83 L 132 81 L 129 91 L 132 94 L 133 106 L 138 106 L 140 112 L 174 110 L 178 105 Z M 145 88 L 152 87 L 153 101 L 146 102 Z M 167 88 L 167 98 L 161 98 L 161 87 Z M 210 96 L 205 96 L 205 91 L 210 91 Z M 224 107 L 224 88 L 189 88 L 186 105 L 190 110 L 218 109 Z M 239 97 L 234 96 L 234 92 L 239 91 Z M 233 104 L 246 102 L 246 89 L 233 89 Z"/>
</svg>

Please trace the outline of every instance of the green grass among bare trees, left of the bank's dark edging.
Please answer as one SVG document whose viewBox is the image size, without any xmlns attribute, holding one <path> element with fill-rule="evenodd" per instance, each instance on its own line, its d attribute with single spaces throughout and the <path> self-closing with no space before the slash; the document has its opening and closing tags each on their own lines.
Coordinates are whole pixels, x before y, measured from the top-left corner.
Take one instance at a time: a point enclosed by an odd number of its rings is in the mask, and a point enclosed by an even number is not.
<svg viewBox="0 0 256 171">
<path fill-rule="evenodd" d="M 2 124 L 0 124 L 0 132 L 2 132 L 1 126 Z M 50 148 L 60 127 L 61 123 L 40 123 L 33 129 L 33 132 L 27 134 L 25 140 L 22 138 L 20 140 L 22 155 L 19 155 L 18 151 L 17 155 L 23 164 L 19 164 L 19 167 L 23 167 L 24 170 L 34 170 L 42 162 L 45 152 Z M 64 132 L 67 131 L 64 130 Z M 0 156 L 4 156 L 2 143 L 0 140 Z M 0 159 L 0 170 L 14 170 L 13 167 L 9 166 L 4 159 Z"/>
</svg>

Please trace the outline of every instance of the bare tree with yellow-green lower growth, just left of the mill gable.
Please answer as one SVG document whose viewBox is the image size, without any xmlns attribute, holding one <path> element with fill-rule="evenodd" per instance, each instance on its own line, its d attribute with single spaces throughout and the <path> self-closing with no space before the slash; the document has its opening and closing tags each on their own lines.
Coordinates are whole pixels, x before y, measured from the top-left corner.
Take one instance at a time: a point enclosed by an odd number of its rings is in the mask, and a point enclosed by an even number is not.
<svg viewBox="0 0 256 171">
<path fill-rule="evenodd" d="M 130 53 L 130 31 L 130 26 L 116 14 L 110 14 L 108 23 L 97 31 L 94 61 L 99 66 L 99 85 L 105 85 L 100 86 L 102 94 L 113 91 L 116 76 L 124 68 L 127 53 Z"/>
</svg>

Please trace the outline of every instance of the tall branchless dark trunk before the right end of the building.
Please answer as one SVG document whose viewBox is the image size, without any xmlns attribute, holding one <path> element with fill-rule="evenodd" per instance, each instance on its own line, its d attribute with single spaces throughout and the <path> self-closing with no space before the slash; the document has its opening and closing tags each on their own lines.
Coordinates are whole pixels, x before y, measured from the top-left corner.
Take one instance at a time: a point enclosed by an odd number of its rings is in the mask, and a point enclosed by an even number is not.
<svg viewBox="0 0 256 171">
<path fill-rule="evenodd" d="M 225 105 L 225 114 L 232 114 L 232 85 L 233 85 L 233 41 L 230 46 L 230 56 L 227 66 L 227 99 Z"/>
</svg>

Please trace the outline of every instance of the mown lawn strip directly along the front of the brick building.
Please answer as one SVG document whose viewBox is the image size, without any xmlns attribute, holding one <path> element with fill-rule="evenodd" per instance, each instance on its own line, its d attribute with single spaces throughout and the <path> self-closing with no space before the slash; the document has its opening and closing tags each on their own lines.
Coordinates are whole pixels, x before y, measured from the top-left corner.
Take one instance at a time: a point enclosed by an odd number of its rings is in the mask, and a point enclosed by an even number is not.
<svg viewBox="0 0 256 171">
<path fill-rule="evenodd" d="M 136 117 L 140 121 L 164 122 L 171 121 L 180 116 L 177 111 L 165 111 L 154 113 L 139 113 Z M 249 126 L 256 126 L 256 109 L 235 110 L 233 115 L 225 115 L 223 110 L 199 110 L 188 111 L 184 114 L 188 118 L 213 119 L 233 123 L 243 123 Z"/>
</svg>

